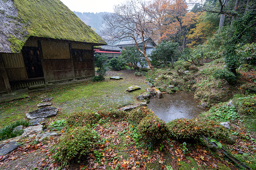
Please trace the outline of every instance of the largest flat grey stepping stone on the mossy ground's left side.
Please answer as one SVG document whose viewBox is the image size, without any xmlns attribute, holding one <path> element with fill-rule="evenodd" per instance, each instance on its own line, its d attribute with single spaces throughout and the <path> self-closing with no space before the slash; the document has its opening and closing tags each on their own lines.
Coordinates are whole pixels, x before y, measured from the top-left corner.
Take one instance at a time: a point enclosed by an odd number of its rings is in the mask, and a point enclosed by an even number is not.
<svg viewBox="0 0 256 170">
<path fill-rule="evenodd" d="M 47 118 L 57 115 L 59 110 L 55 107 L 42 107 L 26 114 L 28 119 L 36 119 L 39 117 Z"/>
</svg>

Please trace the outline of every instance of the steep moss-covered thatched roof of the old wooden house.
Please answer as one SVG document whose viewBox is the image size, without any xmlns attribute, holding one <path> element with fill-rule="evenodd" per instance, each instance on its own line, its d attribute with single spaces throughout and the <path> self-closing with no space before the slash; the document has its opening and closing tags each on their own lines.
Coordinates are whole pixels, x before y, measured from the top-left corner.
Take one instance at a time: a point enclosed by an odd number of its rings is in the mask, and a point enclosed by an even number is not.
<svg viewBox="0 0 256 170">
<path fill-rule="evenodd" d="M 0 0 L 0 53 L 19 53 L 30 36 L 106 42 L 60 0 Z"/>
</svg>

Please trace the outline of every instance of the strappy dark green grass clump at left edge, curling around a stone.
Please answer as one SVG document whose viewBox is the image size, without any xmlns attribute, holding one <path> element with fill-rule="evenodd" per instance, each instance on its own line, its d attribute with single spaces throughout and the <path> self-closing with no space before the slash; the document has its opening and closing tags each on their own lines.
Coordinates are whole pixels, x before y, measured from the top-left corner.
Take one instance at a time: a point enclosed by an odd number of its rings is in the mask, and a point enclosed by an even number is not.
<svg viewBox="0 0 256 170">
<path fill-rule="evenodd" d="M 13 130 L 14 128 L 16 128 L 17 126 L 28 126 L 29 125 L 29 121 L 27 120 L 17 120 L 15 122 L 11 122 L 9 124 L 7 124 L 5 127 L 0 129 L 0 140 L 5 140 L 5 139 L 9 139 L 12 137 L 17 137 L 22 135 L 23 130 Z"/>
</svg>

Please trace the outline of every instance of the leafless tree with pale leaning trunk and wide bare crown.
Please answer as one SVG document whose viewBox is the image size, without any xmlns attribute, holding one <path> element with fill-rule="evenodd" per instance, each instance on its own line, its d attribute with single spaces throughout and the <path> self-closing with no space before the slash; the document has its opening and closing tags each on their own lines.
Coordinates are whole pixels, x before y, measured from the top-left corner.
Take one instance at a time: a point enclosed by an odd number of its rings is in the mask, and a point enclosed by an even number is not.
<svg viewBox="0 0 256 170">
<path fill-rule="evenodd" d="M 104 26 L 101 36 L 107 41 L 118 41 L 132 38 L 137 49 L 145 56 L 148 66 L 154 71 L 146 54 L 147 42 L 153 33 L 151 23 L 154 19 L 147 11 L 146 2 L 143 0 L 129 1 L 116 5 L 114 13 L 103 16 Z M 143 51 L 138 46 L 142 40 Z"/>
</svg>

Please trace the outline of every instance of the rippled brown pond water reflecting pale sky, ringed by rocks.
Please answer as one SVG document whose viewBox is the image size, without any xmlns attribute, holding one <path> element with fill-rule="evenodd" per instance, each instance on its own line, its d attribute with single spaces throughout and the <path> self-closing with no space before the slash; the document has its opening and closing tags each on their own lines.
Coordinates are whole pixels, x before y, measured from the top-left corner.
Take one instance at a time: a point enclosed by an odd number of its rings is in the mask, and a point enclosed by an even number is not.
<svg viewBox="0 0 256 170">
<path fill-rule="evenodd" d="M 177 118 L 193 118 L 206 111 L 196 106 L 199 105 L 190 92 L 163 94 L 164 98 L 151 97 L 148 108 L 163 121 L 169 122 Z"/>
</svg>

